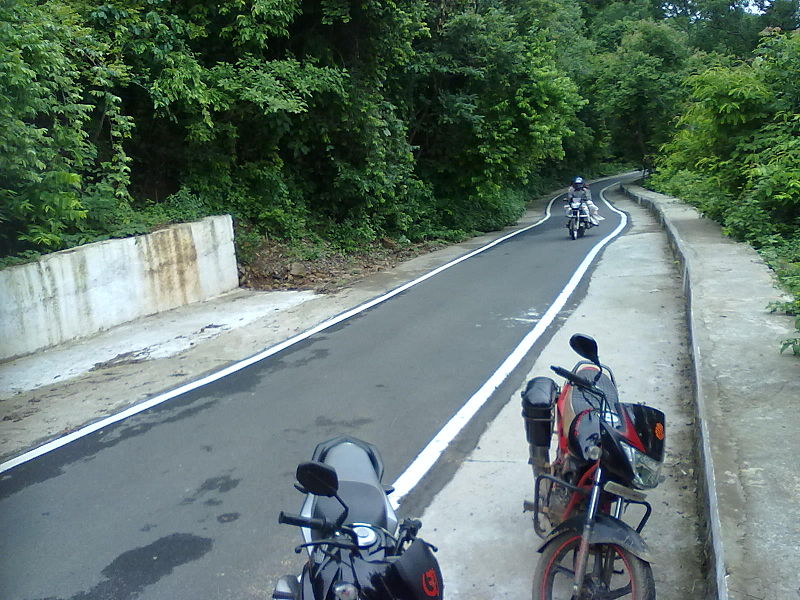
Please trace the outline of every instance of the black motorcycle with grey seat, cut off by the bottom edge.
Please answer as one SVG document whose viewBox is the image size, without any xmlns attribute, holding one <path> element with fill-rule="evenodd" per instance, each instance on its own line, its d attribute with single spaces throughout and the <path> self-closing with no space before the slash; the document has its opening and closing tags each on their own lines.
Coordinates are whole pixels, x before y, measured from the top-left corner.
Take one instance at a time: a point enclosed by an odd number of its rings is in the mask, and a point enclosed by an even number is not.
<svg viewBox="0 0 800 600">
<path fill-rule="evenodd" d="M 378 450 L 341 436 L 319 444 L 297 467 L 306 494 L 300 514 L 278 522 L 301 528 L 308 552 L 300 577 L 281 577 L 275 600 L 441 600 L 436 548 L 417 537 L 421 523 L 397 516 L 381 484 Z"/>
</svg>

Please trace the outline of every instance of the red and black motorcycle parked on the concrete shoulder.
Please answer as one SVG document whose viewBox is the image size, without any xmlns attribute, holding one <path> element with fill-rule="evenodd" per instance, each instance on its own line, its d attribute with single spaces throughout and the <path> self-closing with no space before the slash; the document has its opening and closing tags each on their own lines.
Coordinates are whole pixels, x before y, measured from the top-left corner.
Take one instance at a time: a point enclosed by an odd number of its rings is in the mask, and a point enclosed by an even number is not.
<svg viewBox="0 0 800 600">
<path fill-rule="evenodd" d="M 653 600 L 652 556 L 639 535 L 652 508 L 641 490 L 659 482 L 664 413 L 619 401 L 594 339 L 575 334 L 570 346 L 587 360 L 572 371 L 550 367 L 567 380 L 561 390 L 549 377 L 536 377 L 522 393 L 535 477 L 534 500 L 525 509 L 544 538 L 532 597 Z M 644 508 L 635 529 L 621 520 L 630 505 Z"/>
</svg>

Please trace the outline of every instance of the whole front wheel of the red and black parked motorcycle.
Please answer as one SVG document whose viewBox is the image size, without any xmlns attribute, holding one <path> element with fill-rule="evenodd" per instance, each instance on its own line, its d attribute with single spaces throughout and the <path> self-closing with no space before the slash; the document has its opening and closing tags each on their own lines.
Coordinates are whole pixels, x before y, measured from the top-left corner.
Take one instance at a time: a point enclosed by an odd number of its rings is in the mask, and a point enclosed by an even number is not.
<svg viewBox="0 0 800 600">
<path fill-rule="evenodd" d="M 548 544 L 533 575 L 533 600 L 655 600 L 656 586 L 650 565 L 614 544 L 589 547 L 586 585 L 575 599 L 572 586 L 580 541 L 578 533 L 566 531 Z M 613 566 L 610 577 L 604 577 L 603 565 L 608 560 L 613 561 Z"/>
</svg>

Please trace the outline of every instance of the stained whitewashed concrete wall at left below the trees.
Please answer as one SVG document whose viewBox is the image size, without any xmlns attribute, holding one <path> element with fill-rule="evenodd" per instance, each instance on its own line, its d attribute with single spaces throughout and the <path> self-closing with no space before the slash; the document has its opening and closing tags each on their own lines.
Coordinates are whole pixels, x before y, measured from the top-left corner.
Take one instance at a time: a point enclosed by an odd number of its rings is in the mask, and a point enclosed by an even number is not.
<svg viewBox="0 0 800 600">
<path fill-rule="evenodd" d="M 0 271 L 0 360 L 238 287 L 228 215 Z"/>
</svg>

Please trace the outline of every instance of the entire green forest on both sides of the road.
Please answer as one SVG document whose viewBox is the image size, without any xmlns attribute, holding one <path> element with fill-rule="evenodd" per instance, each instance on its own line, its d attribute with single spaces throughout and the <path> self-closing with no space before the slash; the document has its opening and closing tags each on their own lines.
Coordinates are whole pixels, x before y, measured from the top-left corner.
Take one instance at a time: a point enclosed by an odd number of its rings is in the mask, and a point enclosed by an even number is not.
<svg viewBox="0 0 800 600">
<path fill-rule="evenodd" d="M 0 262 L 220 212 L 244 262 L 265 238 L 457 239 L 557 177 L 656 161 L 798 294 L 798 18 L 798 0 L 0 0 Z"/>
</svg>

